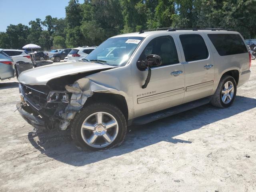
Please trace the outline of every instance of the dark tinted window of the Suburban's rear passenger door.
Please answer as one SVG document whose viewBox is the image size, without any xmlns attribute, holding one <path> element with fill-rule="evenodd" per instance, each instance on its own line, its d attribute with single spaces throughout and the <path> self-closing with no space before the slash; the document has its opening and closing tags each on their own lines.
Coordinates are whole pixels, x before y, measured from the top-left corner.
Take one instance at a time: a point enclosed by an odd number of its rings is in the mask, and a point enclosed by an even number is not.
<svg viewBox="0 0 256 192">
<path fill-rule="evenodd" d="M 202 36 L 198 34 L 180 35 L 180 42 L 187 62 L 208 58 L 209 52 Z"/>
</svg>

